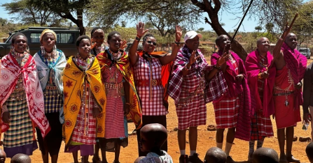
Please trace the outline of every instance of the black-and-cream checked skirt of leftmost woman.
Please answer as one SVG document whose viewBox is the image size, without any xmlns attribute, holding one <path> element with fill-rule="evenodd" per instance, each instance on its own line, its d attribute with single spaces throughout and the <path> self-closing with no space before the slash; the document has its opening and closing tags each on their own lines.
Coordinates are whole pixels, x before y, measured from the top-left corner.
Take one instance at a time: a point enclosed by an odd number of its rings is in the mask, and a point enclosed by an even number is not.
<svg viewBox="0 0 313 163">
<path fill-rule="evenodd" d="M 10 100 L 10 98 L 23 97 L 23 100 Z M 6 107 L 10 113 L 10 127 L 4 132 L 4 147 L 12 148 L 25 146 L 34 142 L 34 132 L 32 128 L 32 119 L 28 114 L 25 91 L 14 91 L 3 107 Z"/>
</svg>

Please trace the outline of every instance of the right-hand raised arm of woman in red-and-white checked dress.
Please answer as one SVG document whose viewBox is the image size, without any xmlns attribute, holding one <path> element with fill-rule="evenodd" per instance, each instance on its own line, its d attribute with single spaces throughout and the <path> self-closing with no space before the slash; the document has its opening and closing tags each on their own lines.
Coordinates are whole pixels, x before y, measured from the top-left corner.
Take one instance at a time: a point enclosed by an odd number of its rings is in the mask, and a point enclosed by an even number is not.
<svg viewBox="0 0 313 163">
<path fill-rule="evenodd" d="M 181 26 L 176 25 L 175 27 L 176 34 L 175 34 L 175 43 L 172 47 L 172 53 L 167 54 L 166 56 L 161 57 L 160 63 L 161 65 L 166 65 L 167 63 L 170 63 L 174 59 L 176 59 L 177 53 L 179 52 L 179 42 L 181 42 L 181 36 L 183 35 L 183 32 L 181 30 Z"/>
</svg>

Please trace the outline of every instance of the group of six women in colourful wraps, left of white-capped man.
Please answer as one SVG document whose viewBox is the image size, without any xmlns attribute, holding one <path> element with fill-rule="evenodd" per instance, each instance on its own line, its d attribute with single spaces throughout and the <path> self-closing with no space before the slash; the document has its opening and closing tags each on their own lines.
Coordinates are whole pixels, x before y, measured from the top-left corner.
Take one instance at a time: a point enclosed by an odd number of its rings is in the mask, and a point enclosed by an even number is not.
<svg viewBox="0 0 313 163">
<path fill-rule="evenodd" d="M 127 121 L 134 122 L 137 133 L 148 123 L 166 127 L 167 65 L 176 58 L 179 45 L 171 54 L 153 54 L 156 40 L 151 34 L 144 36 L 146 31 L 139 22 L 126 54 L 120 33 L 109 33 L 106 47 L 104 31 L 92 29 L 91 38 L 78 37 L 78 53 L 69 59 L 57 49 L 56 33 L 50 29 L 41 33 L 41 50 L 34 56 L 27 37 L 15 33 L 11 52 L 0 62 L 0 125 L 7 157 L 32 155 L 38 148 L 36 133 L 45 163 L 48 155 L 57 162 L 62 140 L 75 163 L 78 150 L 82 162 L 88 162 L 89 155 L 100 162 L 99 148 L 102 162 L 107 162 L 106 151 L 115 151 L 113 162 L 119 162 L 120 146 L 127 146 Z M 176 42 L 181 33 L 176 26 Z M 143 36 L 144 48 L 137 51 Z M 137 136 L 139 155 L 144 155 Z"/>
</svg>

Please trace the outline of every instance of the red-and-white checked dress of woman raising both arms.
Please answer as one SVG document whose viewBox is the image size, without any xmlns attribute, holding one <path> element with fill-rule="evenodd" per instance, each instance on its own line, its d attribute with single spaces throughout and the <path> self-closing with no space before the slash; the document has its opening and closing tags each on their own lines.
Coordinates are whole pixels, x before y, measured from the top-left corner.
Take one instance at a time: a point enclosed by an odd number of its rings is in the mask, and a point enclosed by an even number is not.
<svg viewBox="0 0 313 163">
<path fill-rule="evenodd" d="M 162 65 L 157 58 L 152 58 L 151 61 L 146 61 L 142 56 L 134 66 L 134 79 L 136 80 L 149 80 L 150 79 L 150 65 L 152 71 L 152 79 L 161 79 Z M 152 86 L 151 95 L 149 93 L 149 86 L 136 86 L 141 100 L 141 111 L 144 116 L 164 116 L 168 113 L 163 105 L 163 86 Z"/>
</svg>

